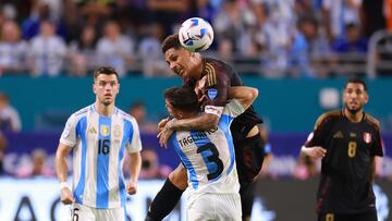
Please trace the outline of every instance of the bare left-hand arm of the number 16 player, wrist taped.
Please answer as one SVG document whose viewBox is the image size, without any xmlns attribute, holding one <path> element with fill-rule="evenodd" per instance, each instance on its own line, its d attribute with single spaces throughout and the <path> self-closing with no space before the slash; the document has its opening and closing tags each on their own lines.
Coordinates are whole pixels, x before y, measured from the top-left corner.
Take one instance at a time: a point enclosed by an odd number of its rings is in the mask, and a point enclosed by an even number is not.
<svg viewBox="0 0 392 221">
<path fill-rule="evenodd" d="M 66 183 L 68 179 L 68 163 L 66 156 L 70 154 L 71 147 L 64 144 L 59 144 L 59 147 L 56 151 L 56 173 L 58 175 L 61 188 L 61 201 L 64 205 L 72 204 L 74 201 L 71 189 L 63 185 Z"/>
</svg>

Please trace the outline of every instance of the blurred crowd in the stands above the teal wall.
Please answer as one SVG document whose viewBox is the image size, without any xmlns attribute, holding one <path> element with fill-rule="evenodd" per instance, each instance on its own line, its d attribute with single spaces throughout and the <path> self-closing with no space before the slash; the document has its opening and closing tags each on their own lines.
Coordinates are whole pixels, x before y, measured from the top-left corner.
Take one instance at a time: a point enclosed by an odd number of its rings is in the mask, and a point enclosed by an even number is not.
<svg viewBox="0 0 392 221">
<path fill-rule="evenodd" d="M 81 76 L 100 64 L 171 76 L 160 44 L 192 16 L 213 26 L 208 52 L 241 73 L 323 77 L 366 71 L 370 36 L 392 29 L 392 1 L 2 0 L 0 73 Z"/>
</svg>

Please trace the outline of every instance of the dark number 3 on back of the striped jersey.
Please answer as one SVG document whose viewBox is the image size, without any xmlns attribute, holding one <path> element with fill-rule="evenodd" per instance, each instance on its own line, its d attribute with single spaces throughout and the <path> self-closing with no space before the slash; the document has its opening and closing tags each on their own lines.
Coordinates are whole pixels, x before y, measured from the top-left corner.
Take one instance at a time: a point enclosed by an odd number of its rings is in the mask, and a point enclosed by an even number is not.
<svg viewBox="0 0 392 221">
<path fill-rule="evenodd" d="M 204 152 L 210 152 L 211 155 L 207 156 Z M 206 164 L 215 163 L 217 165 L 216 170 L 213 172 L 210 171 L 210 173 L 207 175 L 207 179 L 209 181 L 218 177 L 223 172 L 223 162 L 219 159 L 219 151 L 213 144 L 208 143 L 206 145 L 203 145 L 201 147 L 198 147 L 197 154 L 201 154 L 203 160 Z"/>
</svg>

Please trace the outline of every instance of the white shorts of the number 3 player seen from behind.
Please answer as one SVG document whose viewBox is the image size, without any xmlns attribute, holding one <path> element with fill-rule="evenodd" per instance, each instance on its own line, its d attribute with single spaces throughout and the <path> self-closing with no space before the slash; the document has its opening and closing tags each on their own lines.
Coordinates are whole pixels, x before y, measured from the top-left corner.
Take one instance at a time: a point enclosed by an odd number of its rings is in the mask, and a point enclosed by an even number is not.
<svg viewBox="0 0 392 221">
<path fill-rule="evenodd" d="M 241 221 L 240 194 L 204 194 L 187 205 L 187 221 Z"/>
</svg>

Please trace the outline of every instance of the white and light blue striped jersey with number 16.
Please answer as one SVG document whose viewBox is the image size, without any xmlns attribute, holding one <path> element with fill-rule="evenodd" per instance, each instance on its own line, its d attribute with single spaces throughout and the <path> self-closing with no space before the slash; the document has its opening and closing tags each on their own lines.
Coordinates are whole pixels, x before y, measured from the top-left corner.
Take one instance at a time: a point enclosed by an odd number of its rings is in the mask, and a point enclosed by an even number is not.
<svg viewBox="0 0 392 221">
<path fill-rule="evenodd" d="M 114 108 L 111 116 L 99 115 L 95 105 L 68 120 L 60 143 L 73 147 L 73 195 L 88 207 L 108 209 L 125 205 L 124 151 L 142 150 L 136 120 Z"/>
</svg>

